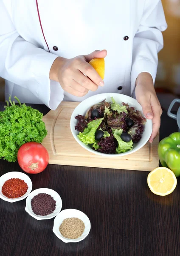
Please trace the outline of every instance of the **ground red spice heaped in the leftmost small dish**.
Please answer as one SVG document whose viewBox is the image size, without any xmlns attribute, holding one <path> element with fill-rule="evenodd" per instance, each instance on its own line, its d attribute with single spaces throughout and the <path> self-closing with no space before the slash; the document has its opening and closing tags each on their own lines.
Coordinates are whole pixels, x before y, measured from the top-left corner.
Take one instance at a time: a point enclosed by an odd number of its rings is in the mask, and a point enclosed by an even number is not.
<svg viewBox="0 0 180 256">
<path fill-rule="evenodd" d="M 6 180 L 2 186 L 2 193 L 7 198 L 18 198 L 28 191 L 28 185 L 24 180 L 17 178 Z"/>
</svg>

